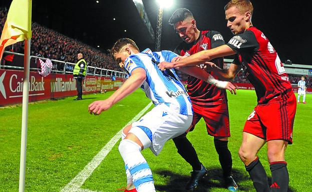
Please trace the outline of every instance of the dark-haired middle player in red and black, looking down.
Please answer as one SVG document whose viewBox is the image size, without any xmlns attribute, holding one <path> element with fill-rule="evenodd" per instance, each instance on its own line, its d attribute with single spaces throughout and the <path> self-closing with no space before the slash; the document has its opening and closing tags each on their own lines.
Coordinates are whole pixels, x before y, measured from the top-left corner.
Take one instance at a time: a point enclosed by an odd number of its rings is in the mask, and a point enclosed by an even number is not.
<svg viewBox="0 0 312 192">
<path fill-rule="evenodd" d="M 181 56 L 189 56 L 225 44 L 219 32 L 198 30 L 193 14 L 186 8 L 175 10 L 169 19 L 169 24 L 174 25 L 174 29 L 183 40 L 174 51 Z M 223 57 L 216 58 L 213 62 L 223 68 Z M 200 64 L 198 67 L 205 70 L 205 65 Z M 230 129 L 226 91 L 193 76 L 188 77 L 187 90 L 194 111 L 190 131 L 201 118 L 205 120 L 208 134 L 214 137 L 214 146 L 219 155 L 225 186 L 229 191 L 235 192 L 238 187 L 231 175 L 232 157 L 227 147 Z M 207 170 L 200 163 L 195 149 L 186 138 L 186 133 L 174 138 L 173 141 L 178 153 L 192 166 L 193 172 L 186 189 L 194 189 Z"/>
</svg>

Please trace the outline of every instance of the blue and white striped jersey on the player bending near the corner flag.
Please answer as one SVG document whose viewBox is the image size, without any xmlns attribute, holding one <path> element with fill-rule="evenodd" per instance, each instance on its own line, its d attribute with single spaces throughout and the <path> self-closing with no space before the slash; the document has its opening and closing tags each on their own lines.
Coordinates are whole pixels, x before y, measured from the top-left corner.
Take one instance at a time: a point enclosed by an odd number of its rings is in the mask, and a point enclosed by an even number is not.
<svg viewBox="0 0 312 192">
<path fill-rule="evenodd" d="M 141 53 L 130 55 L 125 61 L 125 69 L 130 75 L 138 67 L 146 71 L 146 80 L 141 88 L 154 105 L 166 104 L 179 114 L 193 115 L 190 98 L 175 71 L 161 71 L 157 66 L 162 61 L 171 62 L 176 56 L 171 51 L 152 52 L 145 49 Z"/>
</svg>

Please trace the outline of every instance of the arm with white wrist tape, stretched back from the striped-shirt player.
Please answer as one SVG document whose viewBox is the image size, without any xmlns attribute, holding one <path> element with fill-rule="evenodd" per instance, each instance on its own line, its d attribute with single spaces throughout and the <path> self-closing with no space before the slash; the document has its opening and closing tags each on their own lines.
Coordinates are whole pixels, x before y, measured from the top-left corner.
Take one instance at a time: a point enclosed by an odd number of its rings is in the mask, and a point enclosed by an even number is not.
<svg viewBox="0 0 312 192">
<path fill-rule="evenodd" d="M 231 82 L 228 81 L 220 81 L 215 79 L 212 75 L 207 73 L 205 70 L 202 70 L 200 67 L 197 66 L 188 66 L 188 67 L 177 67 L 176 69 L 187 73 L 191 76 L 194 76 L 198 79 L 201 79 L 207 83 L 213 84 L 214 86 L 220 88 L 220 89 L 227 89 L 231 92 L 231 94 L 236 95 L 236 89 L 237 87 L 233 85 Z"/>
</svg>

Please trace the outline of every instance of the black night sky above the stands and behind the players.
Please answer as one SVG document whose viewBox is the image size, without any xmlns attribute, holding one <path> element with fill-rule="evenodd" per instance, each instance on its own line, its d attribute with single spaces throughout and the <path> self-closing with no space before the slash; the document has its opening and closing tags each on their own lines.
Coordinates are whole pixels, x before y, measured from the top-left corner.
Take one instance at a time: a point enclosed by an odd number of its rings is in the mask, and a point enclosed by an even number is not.
<svg viewBox="0 0 312 192">
<path fill-rule="evenodd" d="M 9 7 L 11 0 L 0 0 Z M 221 32 L 227 42 L 232 34 L 226 27 L 224 5 L 228 0 L 175 0 L 164 9 L 161 49 L 173 50 L 180 42 L 168 24 L 176 8 L 185 7 L 193 12 L 199 29 Z M 312 65 L 311 13 L 309 1 L 251 0 L 254 6 L 253 25 L 259 28 L 277 50 L 282 61 Z M 156 34 L 158 4 L 143 0 L 145 10 Z M 141 50 L 154 49 L 148 42 L 147 29 L 139 18 L 132 0 L 33 0 L 33 21 L 72 38 L 106 51 L 121 37 L 135 40 Z M 113 20 L 116 18 L 116 20 Z M 124 30 L 127 30 L 125 32 Z"/>
</svg>

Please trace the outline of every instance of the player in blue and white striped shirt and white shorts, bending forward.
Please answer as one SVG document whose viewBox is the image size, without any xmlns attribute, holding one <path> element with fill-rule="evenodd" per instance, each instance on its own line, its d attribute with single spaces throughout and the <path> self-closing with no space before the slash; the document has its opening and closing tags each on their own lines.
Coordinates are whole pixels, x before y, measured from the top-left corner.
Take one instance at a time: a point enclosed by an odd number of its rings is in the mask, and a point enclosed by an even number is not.
<svg viewBox="0 0 312 192">
<path fill-rule="evenodd" d="M 171 51 L 152 52 L 150 49 L 140 53 L 135 42 L 129 38 L 119 39 L 111 53 L 119 65 L 130 73 L 130 77 L 108 99 L 91 103 L 89 112 L 98 115 L 137 88 L 144 90 L 155 107 L 122 131 L 118 149 L 126 168 L 125 192 L 156 192 L 151 169 L 141 150 L 150 148 L 157 156 L 166 141 L 188 130 L 193 118 L 190 98 L 175 71 L 161 71 L 157 66 L 161 61 L 174 61 L 178 55 Z M 198 67 L 180 70 L 236 93 L 236 87 L 230 82 L 215 80 Z"/>
</svg>

